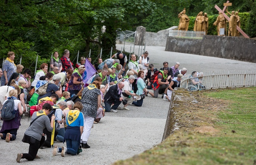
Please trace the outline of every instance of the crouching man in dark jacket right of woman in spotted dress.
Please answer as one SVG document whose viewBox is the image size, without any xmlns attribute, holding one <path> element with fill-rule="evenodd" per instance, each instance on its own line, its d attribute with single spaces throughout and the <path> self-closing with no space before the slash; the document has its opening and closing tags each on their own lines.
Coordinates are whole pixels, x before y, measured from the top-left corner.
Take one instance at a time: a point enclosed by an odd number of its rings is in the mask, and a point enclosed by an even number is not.
<svg viewBox="0 0 256 165">
<path fill-rule="evenodd" d="M 108 92 L 104 97 L 106 112 L 117 112 L 117 107 L 123 101 L 121 93 L 124 86 L 125 84 L 123 82 L 119 82 L 117 85 L 113 85 L 109 88 Z M 112 104 L 114 105 L 111 107 Z"/>
</svg>

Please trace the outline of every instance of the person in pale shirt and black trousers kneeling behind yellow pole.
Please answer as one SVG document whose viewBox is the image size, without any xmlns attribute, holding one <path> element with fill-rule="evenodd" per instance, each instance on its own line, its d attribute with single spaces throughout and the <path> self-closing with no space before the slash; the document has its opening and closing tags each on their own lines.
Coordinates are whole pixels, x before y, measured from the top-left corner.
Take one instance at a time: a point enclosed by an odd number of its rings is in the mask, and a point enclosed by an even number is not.
<svg viewBox="0 0 256 165">
<path fill-rule="evenodd" d="M 59 130 L 59 124 L 62 122 L 62 111 L 67 108 L 67 103 L 65 101 L 59 102 L 58 105 L 53 105 L 53 111 L 55 116 L 55 134 L 54 139 L 56 139 L 56 136 L 58 134 Z M 44 141 L 42 147 L 48 147 L 51 148 L 51 138 L 52 138 L 52 132 L 48 131 L 46 128 L 43 130 L 43 133 L 46 135 L 46 140 Z M 41 148 L 42 148 L 41 147 Z"/>
</svg>

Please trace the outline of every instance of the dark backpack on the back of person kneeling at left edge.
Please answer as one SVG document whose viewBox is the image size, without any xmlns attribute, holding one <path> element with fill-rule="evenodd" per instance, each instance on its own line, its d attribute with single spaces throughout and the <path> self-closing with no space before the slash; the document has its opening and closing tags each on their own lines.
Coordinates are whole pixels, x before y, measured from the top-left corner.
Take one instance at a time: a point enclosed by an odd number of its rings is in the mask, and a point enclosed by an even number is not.
<svg viewBox="0 0 256 165">
<path fill-rule="evenodd" d="M 14 110 L 14 99 L 10 98 L 3 104 L 1 115 L 3 120 L 11 120 L 15 117 L 16 112 Z"/>
</svg>

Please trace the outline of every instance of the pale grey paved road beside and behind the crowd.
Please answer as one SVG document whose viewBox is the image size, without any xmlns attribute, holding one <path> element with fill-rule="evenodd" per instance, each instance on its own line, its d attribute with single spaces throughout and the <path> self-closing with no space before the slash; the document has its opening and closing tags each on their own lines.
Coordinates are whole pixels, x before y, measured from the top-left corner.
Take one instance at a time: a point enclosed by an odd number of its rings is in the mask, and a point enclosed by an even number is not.
<svg viewBox="0 0 256 165">
<path fill-rule="evenodd" d="M 117 45 L 121 48 L 123 45 Z M 136 47 L 135 49 L 138 48 Z M 126 50 L 130 50 L 127 45 Z M 180 68 L 186 67 L 188 73 L 194 70 L 247 70 L 256 69 L 255 63 L 240 62 L 234 60 L 220 59 L 216 57 L 207 57 L 193 54 L 166 52 L 165 47 L 150 47 L 146 50 L 149 52 L 151 63 L 156 68 L 162 67 L 163 61 L 168 61 L 172 66 L 176 61 L 181 63 Z M 90 149 L 84 149 L 83 152 L 76 156 L 67 155 L 62 158 L 60 155 L 52 156 L 51 163 L 49 157 L 51 150 L 49 148 L 39 149 L 38 155 L 41 159 L 34 161 L 22 160 L 20 164 L 111 164 L 116 160 L 127 159 L 134 154 L 143 152 L 146 149 L 161 142 L 163 130 L 165 127 L 166 117 L 169 108 L 169 102 L 159 98 L 146 97 L 143 106 L 138 108 L 133 105 L 129 106 L 130 110 L 119 110 L 117 113 L 106 113 L 102 120 L 94 125 L 91 131 L 88 144 Z M 6 143 L 0 140 L 1 164 L 16 163 L 18 152 L 26 153 L 28 144 L 21 142 L 25 130 L 29 123 L 27 118 L 22 118 L 22 126 L 18 130 L 17 139 L 13 142 Z M 62 146 L 62 143 L 55 143 Z"/>
</svg>

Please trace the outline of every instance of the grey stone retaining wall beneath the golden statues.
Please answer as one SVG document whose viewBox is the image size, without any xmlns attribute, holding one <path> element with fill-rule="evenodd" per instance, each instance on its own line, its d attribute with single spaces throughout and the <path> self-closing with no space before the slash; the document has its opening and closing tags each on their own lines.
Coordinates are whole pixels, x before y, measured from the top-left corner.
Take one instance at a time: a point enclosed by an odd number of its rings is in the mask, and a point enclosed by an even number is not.
<svg viewBox="0 0 256 165">
<path fill-rule="evenodd" d="M 256 63 L 256 40 L 204 35 L 203 39 L 168 37 L 166 51 L 198 54 Z"/>
</svg>

